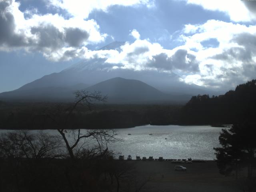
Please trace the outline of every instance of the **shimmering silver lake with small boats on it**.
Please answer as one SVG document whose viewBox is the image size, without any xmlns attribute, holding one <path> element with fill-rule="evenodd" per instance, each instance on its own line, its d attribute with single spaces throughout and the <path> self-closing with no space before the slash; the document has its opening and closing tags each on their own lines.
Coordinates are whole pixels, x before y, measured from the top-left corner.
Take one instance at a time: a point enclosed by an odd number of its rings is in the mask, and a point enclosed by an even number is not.
<svg viewBox="0 0 256 192">
<path fill-rule="evenodd" d="M 116 153 L 122 153 L 125 158 L 130 154 L 133 159 L 138 155 L 141 158 L 162 156 L 168 159 L 214 160 L 216 156 L 213 148 L 220 146 L 218 137 L 221 129 L 211 126 L 178 125 L 145 125 L 116 129 L 118 133 L 116 136 L 122 140 L 110 144 L 109 148 Z M 0 133 L 6 131 L 8 130 L 0 130 Z M 44 130 L 44 132 L 57 134 L 56 130 Z"/>
</svg>

